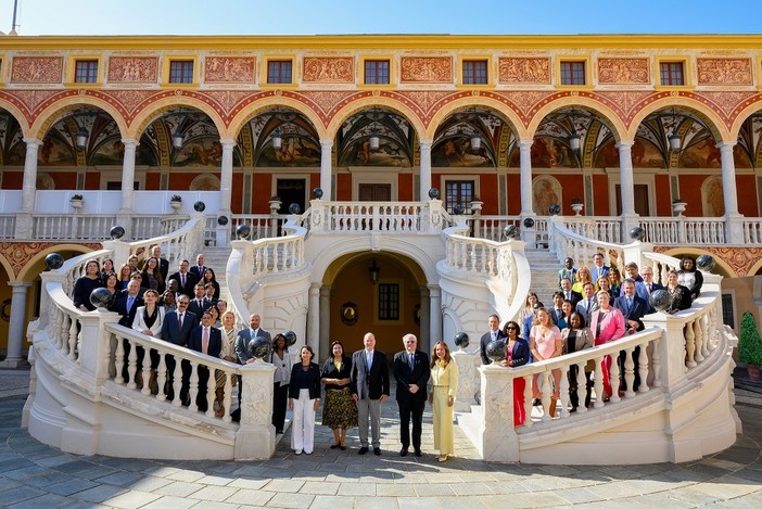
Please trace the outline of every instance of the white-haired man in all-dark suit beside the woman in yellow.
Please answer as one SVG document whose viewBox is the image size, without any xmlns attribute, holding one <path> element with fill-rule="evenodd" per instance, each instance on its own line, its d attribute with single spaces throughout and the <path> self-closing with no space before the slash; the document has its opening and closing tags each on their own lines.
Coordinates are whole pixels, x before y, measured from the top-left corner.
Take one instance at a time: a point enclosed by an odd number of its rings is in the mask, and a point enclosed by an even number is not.
<svg viewBox="0 0 762 509">
<path fill-rule="evenodd" d="M 412 449 L 421 456 L 421 424 L 426 406 L 426 384 L 431 374 L 429 356 L 418 352 L 418 339 L 414 334 L 403 336 L 405 349 L 394 356 L 394 380 L 397 381 L 397 406 L 399 407 L 399 456 L 407 456 L 410 447 L 410 418 L 412 418 Z"/>
</svg>

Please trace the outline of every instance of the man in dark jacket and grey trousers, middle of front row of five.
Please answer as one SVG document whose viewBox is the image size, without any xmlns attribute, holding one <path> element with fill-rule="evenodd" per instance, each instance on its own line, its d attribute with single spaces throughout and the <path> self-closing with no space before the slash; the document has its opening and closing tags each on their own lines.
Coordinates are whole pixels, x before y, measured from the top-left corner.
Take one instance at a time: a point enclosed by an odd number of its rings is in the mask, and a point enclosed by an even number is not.
<svg viewBox="0 0 762 509">
<path fill-rule="evenodd" d="M 386 355 L 376 351 L 376 336 L 368 332 L 363 339 L 365 348 L 352 356 L 350 390 L 357 402 L 359 423 L 359 455 L 368 451 L 368 418 L 372 434 L 373 454 L 381 456 L 381 404 L 389 397 L 389 366 Z"/>
</svg>

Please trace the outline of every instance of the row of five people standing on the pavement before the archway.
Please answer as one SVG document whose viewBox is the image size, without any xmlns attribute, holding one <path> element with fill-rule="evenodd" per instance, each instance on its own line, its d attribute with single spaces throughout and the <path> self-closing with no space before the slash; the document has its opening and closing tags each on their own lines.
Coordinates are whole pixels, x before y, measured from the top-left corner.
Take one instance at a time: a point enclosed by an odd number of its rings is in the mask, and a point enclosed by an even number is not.
<svg viewBox="0 0 762 509">
<path fill-rule="evenodd" d="M 358 428 L 358 454 L 366 455 L 372 448 L 376 456 L 381 455 L 381 405 L 390 397 L 389 365 L 386 354 L 376 348 L 373 333 L 365 334 L 363 345 L 363 349 L 350 357 L 344 345 L 334 341 L 331 356 L 321 368 L 313 360 L 313 349 L 302 346 L 301 362 L 292 367 L 288 382 L 288 405 L 293 412 L 291 447 L 295 454 L 313 454 L 315 415 L 320 407 L 322 384 L 326 393 L 322 425 L 333 431 L 331 448 L 345 450 L 347 430 Z M 412 454 L 422 456 L 422 421 L 428 400 L 433 411 L 434 448 L 440 451 L 439 460 L 446 461 L 455 447 L 453 411 L 458 367 L 444 342 L 434 345 L 431 362 L 418 349 L 414 334 L 405 334 L 403 346 L 393 362 L 401 421 L 399 455 L 407 456 L 412 446 Z"/>
</svg>

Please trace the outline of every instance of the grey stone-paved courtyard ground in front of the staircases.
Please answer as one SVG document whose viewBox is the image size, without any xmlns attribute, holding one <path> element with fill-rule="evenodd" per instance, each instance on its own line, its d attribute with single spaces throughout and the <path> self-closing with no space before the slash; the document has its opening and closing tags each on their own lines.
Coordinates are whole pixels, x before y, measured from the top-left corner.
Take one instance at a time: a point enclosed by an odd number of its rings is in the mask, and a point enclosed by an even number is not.
<svg viewBox="0 0 762 509">
<path fill-rule="evenodd" d="M 0 387 L 5 387 L 0 373 Z M 456 432 L 456 457 L 436 461 L 431 415 L 422 458 L 399 457 L 397 408 L 383 406 L 382 456 L 330 449 L 317 427 L 312 456 L 290 434 L 267 461 L 166 461 L 62 454 L 21 430 L 24 399 L 0 389 L 0 506 L 12 508 L 521 508 L 762 507 L 762 408 L 738 405 L 745 434 L 729 449 L 690 463 L 635 467 L 487 465 Z"/>
</svg>

